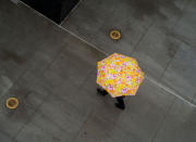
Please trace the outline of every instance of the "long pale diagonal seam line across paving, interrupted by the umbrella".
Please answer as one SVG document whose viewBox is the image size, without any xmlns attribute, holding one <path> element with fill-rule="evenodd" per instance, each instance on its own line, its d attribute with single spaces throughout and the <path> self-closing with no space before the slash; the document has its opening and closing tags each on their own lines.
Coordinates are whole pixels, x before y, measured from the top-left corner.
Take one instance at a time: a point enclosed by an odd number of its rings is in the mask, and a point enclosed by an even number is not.
<svg viewBox="0 0 196 142">
<path fill-rule="evenodd" d="M 26 8 L 30 9 L 30 10 L 32 10 L 34 13 L 36 13 L 37 15 L 39 15 L 39 16 L 44 17 L 45 20 L 51 22 L 52 24 L 54 24 L 56 26 L 58 26 L 58 27 L 61 28 L 62 30 L 69 33 L 69 34 L 72 35 L 73 37 L 79 39 L 79 40 L 83 41 L 84 43 L 86 43 L 86 44 L 90 46 L 91 48 L 96 49 L 98 52 L 103 53 L 105 55 L 109 55 L 109 54 L 108 54 L 107 52 L 105 52 L 103 50 L 100 50 L 98 47 L 89 43 L 88 41 L 86 41 L 86 40 L 84 40 L 84 39 L 82 39 L 81 37 L 78 37 L 77 35 L 75 35 L 74 33 L 65 29 L 65 28 L 62 27 L 61 25 L 58 25 L 57 23 L 54 23 L 54 22 L 51 21 L 50 18 L 46 17 L 44 14 L 39 13 L 38 11 L 34 10 L 33 8 L 30 8 L 29 5 L 27 5 L 26 3 L 24 3 L 23 1 L 20 1 L 20 3 L 22 3 L 22 4 L 25 5 Z M 154 25 L 154 23 L 152 23 L 150 26 L 152 26 L 152 25 Z M 149 27 L 150 27 L 150 26 L 149 26 Z M 179 98 L 179 99 L 182 100 L 183 102 L 189 104 L 189 105 L 193 106 L 193 107 L 196 107 L 195 104 L 193 104 L 192 102 L 185 100 L 184 98 L 182 98 L 180 94 L 177 94 L 177 93 L 174 92 L 173 90 L 169 89 L 168 87 L 164 87 L 163 85 L 161 85 L 160 82 L 156 81 L 155 79 L 152 79 L 152 78 L 150 78 L 150 77 L 148 77 L 148 76 L 146 76 L 146 78 L 149 79 L 149 80 L 150 80 L 151 82 L 154 82 L 155 85 L 157 85 L 158 87 L 160 87 L 160 88 L 162 88 L 163 90 L 166 90 L 167 92 L 169 92 L 169 93 L 173 94 L 174 96 Z"/>
</svg>

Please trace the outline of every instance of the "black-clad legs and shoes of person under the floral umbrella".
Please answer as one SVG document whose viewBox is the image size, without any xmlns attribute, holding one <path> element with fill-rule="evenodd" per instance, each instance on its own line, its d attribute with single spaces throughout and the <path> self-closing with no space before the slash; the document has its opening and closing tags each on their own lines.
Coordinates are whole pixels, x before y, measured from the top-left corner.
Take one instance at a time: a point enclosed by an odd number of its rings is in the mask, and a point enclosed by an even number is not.
<svg viewBox="0 0 196 142">
<path fill-rule="evenodd" d="M 105 89 L 100 89 L 100 88 L 97 89 L 97 92 L 103 96 L 108 94 L 108 92 Z M 118 103 L 115 103 L 115 106 L 120 109 L 125 109 L 124 98 L 125 96 L 117 96 L 115 98 L 117 102 L 118 102 Z"/>
</svg>

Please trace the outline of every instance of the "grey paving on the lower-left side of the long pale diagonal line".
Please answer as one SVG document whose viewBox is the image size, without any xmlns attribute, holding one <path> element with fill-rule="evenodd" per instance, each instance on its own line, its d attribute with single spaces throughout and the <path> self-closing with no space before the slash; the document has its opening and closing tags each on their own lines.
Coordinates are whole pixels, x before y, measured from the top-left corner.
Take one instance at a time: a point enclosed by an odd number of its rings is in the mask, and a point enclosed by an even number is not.
<svg viewBox="0 0 196 142">
<path fill-rule="evenodd" d="M 0 17 L 0 141 L 196 141 L 194 107 L 145 79 L 120 111 L 96 93 L 103 53 L 23 3 L 1 0 Z"/>
</svg>

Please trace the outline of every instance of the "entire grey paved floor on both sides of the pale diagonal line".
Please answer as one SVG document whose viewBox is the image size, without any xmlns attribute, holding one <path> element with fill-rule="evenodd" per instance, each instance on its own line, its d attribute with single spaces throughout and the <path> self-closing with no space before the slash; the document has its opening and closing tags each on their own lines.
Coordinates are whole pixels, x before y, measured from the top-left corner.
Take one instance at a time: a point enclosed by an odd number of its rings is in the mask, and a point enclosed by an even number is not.
<svg viewBox="0 0 196 142">
<path fill-rule="evenodd" d="M 148 13 L 137 13 L 139 3 L 131 2 L 131 9 L 126 2 L 82 1 L 63 27 L 107 53 L 137 57 L 148 76 L 179 89 L 185 98 L 194 96 L 195 33 L 189 26 L 195 22 L 194 1 L 159 1 L 155 8 L 149 1 Z M 105 20 L 111 13 L 115 15 L 111 22 L 128 17 L 118 21 L 117 28 L 123 24 L 131 28 L 130 22 L 135 34 L 122 26 L 124 38 L 110 40 L 112 26 Z M 162 31 L 171 27 L 175 33 Z M 117 109 L 110 96 L 98 95 L 96 64 L 103 57 L 23 3 L 0 0 L 0 142 L 196 141 L 196 108 L 149 79 L 137 95 L 126 98 L 125 111 Z M 10 96 L 20 100 L 15 111 L 4 106 Z"/>
</svg>

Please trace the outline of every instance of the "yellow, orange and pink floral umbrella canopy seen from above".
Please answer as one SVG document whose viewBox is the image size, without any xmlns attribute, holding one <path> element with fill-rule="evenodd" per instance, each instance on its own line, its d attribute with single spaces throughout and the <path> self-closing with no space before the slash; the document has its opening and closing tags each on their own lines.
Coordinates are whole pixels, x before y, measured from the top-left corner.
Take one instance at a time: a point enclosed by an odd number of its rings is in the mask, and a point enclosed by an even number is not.
<svg viewBox="0 0 196 142">
<path fill-rule="evenodd" d="M 135 59 L 113 53 L 98 62 L 97 83 L 112 98 L 135 95 L 144 79 Z"/>
</svg>

